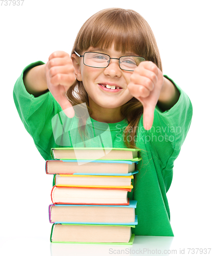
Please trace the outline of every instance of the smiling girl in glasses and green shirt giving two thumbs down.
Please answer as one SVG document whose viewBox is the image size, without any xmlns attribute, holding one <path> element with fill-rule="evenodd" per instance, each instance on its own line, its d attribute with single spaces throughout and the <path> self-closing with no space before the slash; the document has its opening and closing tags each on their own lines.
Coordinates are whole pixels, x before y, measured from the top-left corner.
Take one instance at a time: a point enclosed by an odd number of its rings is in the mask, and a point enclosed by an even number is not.
<svg viewBox="0 0 212 256">
<path fill-rule="evenodd" d="M 14 101 L 45 160 L 51 159 L 51 147 L 76 145 L 74 136 L 88 137 L 87 127 L 92 127 L 95 137 L 106 130 L 105 123 L 113 147 L 141 148 L 139 173 L 128 194 L 138 201 L 133 232 L 173 236 L 166 193 L 191 124 L 192 104 L 163 75 L 154 35 L 140 14 L 116 8 L 94 14 L 78 32 L 71 58 L 56 51 L 46 64 L 38 61 L 23 70 L 14 87 Z M 74 116 L 72 106 L 81 103 L 89 115 Z M 51 122 L 62 110 L 70 127 L 73 122 L 80 125 L 78 133 L 68 131 L 60 144 Z M 84 140 L 85 146 L 88 141 Z"/>
</svg>

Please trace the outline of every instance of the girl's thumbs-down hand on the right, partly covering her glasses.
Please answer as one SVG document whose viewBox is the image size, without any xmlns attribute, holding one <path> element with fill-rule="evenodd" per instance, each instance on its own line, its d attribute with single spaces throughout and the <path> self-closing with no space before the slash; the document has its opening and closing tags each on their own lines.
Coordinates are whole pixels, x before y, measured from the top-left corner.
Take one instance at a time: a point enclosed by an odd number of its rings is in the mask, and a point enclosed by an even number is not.
<svg viewBox="0 0 212 256">
<path fill-rule="evenodd" d="M 141 62 L 130 76 L 128 90 L 143 104 L 143 125 L 146 130 L 151 129 L 153 124 L 154 109 L 163 83 L 163 73 L 151 61 Z"/>
</svg>

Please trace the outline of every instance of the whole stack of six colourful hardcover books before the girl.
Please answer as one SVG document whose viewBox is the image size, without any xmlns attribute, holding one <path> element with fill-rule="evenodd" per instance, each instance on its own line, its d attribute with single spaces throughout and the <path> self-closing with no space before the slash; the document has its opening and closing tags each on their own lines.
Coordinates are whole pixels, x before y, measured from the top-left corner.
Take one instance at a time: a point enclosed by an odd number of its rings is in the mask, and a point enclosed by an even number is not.
<svg viewBox="0 0 212 256">
<path fill-rule="evenodd" d="M 52 148 L 52 243 L 133 244 L 137 201 L 129 200 L 138 158 L 130 148 Z M 98 160 L 96 160 L 98 159 Z"/>
</svg>

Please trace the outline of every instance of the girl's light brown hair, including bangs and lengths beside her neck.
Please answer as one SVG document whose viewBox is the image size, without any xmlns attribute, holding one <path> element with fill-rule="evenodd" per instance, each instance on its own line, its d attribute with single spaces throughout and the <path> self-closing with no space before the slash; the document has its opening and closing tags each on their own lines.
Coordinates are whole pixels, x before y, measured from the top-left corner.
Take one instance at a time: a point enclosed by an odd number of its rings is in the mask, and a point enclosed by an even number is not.
<svg viewBox="0 0 212 256">
<path fill-rule="evenodd" d="M 146 60 L 154 62 L 162 71 L 161 57 L 152 30 L 146 20 L 133 10 L 110 8 L 91 16 L 78 32 L 72 53 L 76 51 L 83 54 L 91 46 L 108 49 L 113 42 L 116 51 L 133 52 Z M 68 90 L 67 97 L 72 105 L 85 102 L 89 115 L 92 114 L 83 82 L 76 81 Z M 125 144 L 129 148 L 136 148 L 135 140 L 130 139 L 128 141 L 127 137 L 135 138 L 137 125 L 143 114 L 142 103 L 133 97 L 122 105 L 121 114 L 128 121 L 124 130 Z M 84 117 L 79 120 L 81 131 L 84 134 L 87 118 Z"/>
</svg>

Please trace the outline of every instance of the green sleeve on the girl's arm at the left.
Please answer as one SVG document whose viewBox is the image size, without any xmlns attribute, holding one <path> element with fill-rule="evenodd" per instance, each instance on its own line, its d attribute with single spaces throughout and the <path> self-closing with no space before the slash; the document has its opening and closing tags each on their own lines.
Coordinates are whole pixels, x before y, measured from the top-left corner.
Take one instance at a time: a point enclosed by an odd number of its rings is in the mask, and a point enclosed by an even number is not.
<svg viewBox="0 0 212 256">
<path fill-rule="evenodd" d="M 51 119 L 62 109 L 50 92 L 34 97 L 26 91 L 23 83 L 24 71 L 42 64 L 42 61 L 34 62 L 22 71 L 15 83 L 13 98 L 20 119 L 26 131 L 33 137 L 38 151 L 44 159 L 50 159 L 50 148 L 56 146 Z"/>
</svg>

